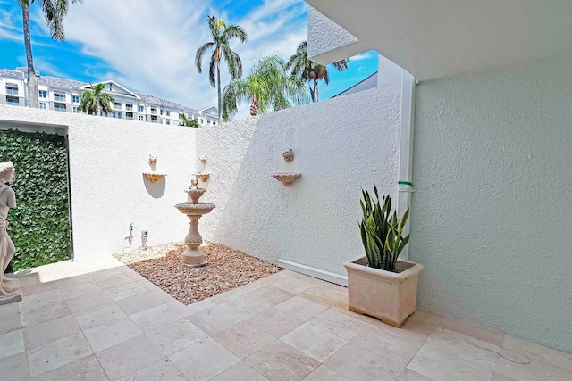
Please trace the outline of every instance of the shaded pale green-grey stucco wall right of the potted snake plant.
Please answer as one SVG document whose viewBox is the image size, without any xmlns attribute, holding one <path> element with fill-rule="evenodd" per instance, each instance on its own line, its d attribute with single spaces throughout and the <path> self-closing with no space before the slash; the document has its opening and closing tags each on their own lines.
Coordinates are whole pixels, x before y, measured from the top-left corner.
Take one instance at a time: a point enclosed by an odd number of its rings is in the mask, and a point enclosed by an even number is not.
<svg viewBox="0 0 572 381">
<path fill-rule="evenodd" d="M 420 307 L 572 352 L 572 56 L 422 82 Z"/>
</svg>

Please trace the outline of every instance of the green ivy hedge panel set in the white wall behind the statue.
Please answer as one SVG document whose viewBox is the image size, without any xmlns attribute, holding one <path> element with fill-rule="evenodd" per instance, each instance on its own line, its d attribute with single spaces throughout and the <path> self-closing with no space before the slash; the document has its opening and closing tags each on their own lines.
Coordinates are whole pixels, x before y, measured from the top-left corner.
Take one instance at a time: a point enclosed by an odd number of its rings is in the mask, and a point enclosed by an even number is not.
<svg viewBox="0 0 572 381">
<path fill-rule="evenodd" d="M 10 270 L 28 269 L 71 257 L 70 196 L 65 137 L 0 131 L 0 162 L 11 160 L 10 182 L 17 208 L 8 215 L 16 246 Z"/>
</svg>

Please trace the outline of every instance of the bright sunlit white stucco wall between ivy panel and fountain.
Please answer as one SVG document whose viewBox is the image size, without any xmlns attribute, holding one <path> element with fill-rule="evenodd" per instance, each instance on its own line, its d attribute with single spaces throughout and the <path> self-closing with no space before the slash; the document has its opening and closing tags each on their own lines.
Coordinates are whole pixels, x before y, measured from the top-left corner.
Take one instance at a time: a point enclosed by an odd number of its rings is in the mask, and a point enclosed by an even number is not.
<svg viewBox="0 0 572 381">
<path fill-rule="evenodd" d="M 187 200 L 195 168 L 195 128 L 0 105 L 0 120 L 60 125 L 70 144 L 71 226 L 77 261 L 121 252 L 133 222 L 133 248 L 181 241 L 188 219 L 173 205 Z M 149 153 L 164 180 L 151 183 Z"/>
</svg>

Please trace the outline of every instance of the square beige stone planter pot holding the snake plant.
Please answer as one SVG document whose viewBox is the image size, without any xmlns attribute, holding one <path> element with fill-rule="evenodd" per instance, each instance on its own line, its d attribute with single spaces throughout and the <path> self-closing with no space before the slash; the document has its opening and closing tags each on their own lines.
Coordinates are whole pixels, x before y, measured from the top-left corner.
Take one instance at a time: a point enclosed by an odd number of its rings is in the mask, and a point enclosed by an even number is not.
<svg viewBox="0 0 572 381">
<path fill-rule="evenodd" d="M 399 273 L 367 266 L 366 256 L 344 263 L 348 271 L 349 311 L 400 327 L 415 312 L 417 281 L 424 266 L 397 261 Z"/>
</svg>

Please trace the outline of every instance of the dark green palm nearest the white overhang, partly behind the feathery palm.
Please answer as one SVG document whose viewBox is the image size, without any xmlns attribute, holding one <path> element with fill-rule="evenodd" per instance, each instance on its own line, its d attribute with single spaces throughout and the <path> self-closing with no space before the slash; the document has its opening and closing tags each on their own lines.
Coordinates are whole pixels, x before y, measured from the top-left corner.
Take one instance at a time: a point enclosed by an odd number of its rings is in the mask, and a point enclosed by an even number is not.
<svg viewBox="0 0 572 381">
<path fill-rule="evenodd" d="M 348 69 L 348 62 L 349 59 L 341 60 L 333 62 L 332 65 L 338 71 L 343 71 Z M 299 43 L 296 47 L 296 53 L 292 54 L 287 65 L 293 76 L 304 79 L 308 82 L 312 102 L 318 102 L 320 100 L 318 81 L 322 79 L 327 85 L 330 83 L 330 76 L 328 75 L 328 70 L 324 65 L 320 65 L 319 63 L 315 63 L 307 59 L 307 41 Z"/>
</svg>

